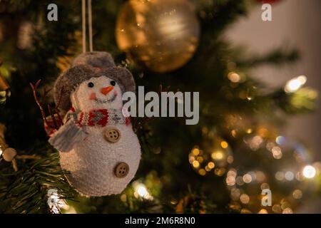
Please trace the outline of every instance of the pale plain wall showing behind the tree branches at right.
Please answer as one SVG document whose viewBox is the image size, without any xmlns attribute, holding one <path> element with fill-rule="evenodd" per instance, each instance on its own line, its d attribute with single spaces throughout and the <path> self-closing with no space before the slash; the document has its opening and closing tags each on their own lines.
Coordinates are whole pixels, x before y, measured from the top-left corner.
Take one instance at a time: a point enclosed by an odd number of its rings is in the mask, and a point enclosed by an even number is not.
<svg viewBox="0 0 321 228">
<path fill-rule="evenodd" d="M 227 31 L 235 44 L 246 45 L 250 51 L 265 53 L 278 46 L 295 46 L 302 59 L 290 67 L 255 68 L 253 75 L 270 86 L 280 86 L 297 74 L 307 76 L 308 86 L 320 90 L 321 72 L 321 2 L 318 0 L 280 1 L 272 6 L 272 21 L 262 21 L 260 5 L 253 7 L 248 17 L 240 19 Z M 290 118 L 287 135 L 304 139 L 320 160 L 320 100 L 317 111 L 300 118 Z"/>
</svg>

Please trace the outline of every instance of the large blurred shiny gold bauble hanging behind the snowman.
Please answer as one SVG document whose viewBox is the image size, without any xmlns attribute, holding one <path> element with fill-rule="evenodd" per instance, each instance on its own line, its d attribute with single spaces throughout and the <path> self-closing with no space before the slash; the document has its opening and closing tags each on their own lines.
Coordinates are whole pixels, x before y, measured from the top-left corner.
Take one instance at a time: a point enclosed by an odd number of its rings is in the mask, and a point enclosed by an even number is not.
<svg viewBox="0 0 321 228">
<path fill-rule="evenodd" d="M 116 24 L 118 47 L 154 72 L 185 65 L 198 46 L 200 26 L 188 0 L 130 0 Z"/>
</svg>

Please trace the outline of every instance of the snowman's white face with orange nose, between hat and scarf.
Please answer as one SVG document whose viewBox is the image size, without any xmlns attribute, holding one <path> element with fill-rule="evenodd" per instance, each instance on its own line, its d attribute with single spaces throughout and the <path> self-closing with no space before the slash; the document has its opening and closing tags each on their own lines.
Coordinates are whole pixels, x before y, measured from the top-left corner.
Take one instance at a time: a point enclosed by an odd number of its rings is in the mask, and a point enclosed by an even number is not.
<svg viewBox="0 0 321 228">
<path fill-rule="evenodd" d="M 116 81 L 106 76 L 83 81 L 71 93 L 73 108 L 81 111 L 93 109 L 122 108 L 121 87 Z"/>
</svg>

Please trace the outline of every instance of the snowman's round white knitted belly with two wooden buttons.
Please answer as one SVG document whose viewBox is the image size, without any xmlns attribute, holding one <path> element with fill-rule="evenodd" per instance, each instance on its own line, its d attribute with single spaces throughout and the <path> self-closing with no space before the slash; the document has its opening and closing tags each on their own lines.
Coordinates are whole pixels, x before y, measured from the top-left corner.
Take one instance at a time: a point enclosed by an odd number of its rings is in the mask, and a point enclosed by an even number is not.
<svg viewBox="0 0 321 228">
<path fill-rule="evenodd" d="M 137 135 L 131 125 L 87 127 L 86 132 L 86 140 L 70 152 L 60 152 L 61 167 L 71 172 L 68 181 L 86 196 L 121 193 L 141 160 Z"/>
</svg>

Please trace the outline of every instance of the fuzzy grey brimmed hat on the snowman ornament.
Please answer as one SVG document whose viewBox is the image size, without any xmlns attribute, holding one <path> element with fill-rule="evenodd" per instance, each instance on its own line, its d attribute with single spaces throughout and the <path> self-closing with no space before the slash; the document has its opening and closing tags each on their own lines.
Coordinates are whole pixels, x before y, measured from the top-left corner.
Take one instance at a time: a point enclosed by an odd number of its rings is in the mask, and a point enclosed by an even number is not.
<svg viewBox="0 0 321 228">
<path fill-rule="evenodd" d="M 68 110 L 71 108 L 71 92 L 83 82 L 93 77 L 107 76 L 115 80 L 123 93 L 132 91 L 135 93 L 136 85 L 133 75 L 123 67 L 117 67 L 110 53 L 94 51 L 82 53 L 77 56 L 71 68 L 61 74 L 54 86 L 54 99 L 59 108 Z"/>
</svg>

